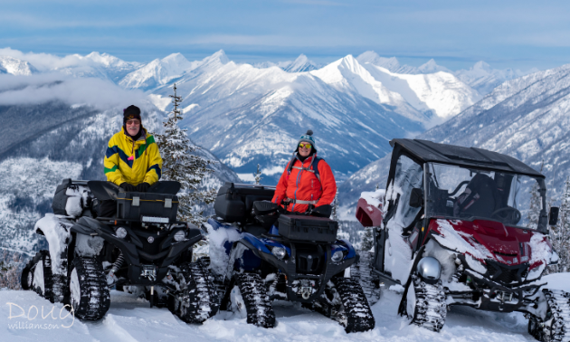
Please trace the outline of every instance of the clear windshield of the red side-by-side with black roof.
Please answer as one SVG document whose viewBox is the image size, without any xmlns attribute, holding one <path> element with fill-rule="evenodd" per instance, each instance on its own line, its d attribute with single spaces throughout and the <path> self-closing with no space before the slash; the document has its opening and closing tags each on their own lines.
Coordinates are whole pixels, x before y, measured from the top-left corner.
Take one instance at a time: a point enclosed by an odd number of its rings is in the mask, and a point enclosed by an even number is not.
<svg viewBox="0 0 570 342">
<path fill-rule="evenodd" d="M 510 226 L 539 227 L 546 215 L 543 178 L 427 163 L 426 213 L 472 221 L 485 219 Z M 544 220 L 543 220 L 544 221 Z"/>
</svg>

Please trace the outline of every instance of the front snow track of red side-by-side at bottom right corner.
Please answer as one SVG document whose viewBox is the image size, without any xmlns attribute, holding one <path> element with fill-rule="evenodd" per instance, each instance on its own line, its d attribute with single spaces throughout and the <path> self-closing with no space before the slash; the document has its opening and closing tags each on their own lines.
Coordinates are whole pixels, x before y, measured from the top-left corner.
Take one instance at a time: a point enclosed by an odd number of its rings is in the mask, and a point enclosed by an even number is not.
<svg viewBox="0 0 570 342">
<path fill-rule="evenodd" d="M 570 342 L 570 293 L 542 290 L 548 311 L 543 322 L 536 316 L 528 320 L 528 333 L 542 342 Z"/>
</svg>

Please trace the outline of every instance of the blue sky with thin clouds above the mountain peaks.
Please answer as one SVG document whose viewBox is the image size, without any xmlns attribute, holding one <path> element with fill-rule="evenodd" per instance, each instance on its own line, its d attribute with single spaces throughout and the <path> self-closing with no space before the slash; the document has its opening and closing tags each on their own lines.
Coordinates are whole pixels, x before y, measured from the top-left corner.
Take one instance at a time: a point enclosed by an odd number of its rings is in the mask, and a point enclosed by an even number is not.
<svg viewBox="0 0 570 342">
<path fill-rule="evenodd" d="M 237 62 L 316 62 L 374 50 L 452 70 L 547 69 L 570 62 L 568 1 L 25 1 L 0 2 L 0 48 L 108 52 L 148 62 L 223 49 Z"/>
</svg>

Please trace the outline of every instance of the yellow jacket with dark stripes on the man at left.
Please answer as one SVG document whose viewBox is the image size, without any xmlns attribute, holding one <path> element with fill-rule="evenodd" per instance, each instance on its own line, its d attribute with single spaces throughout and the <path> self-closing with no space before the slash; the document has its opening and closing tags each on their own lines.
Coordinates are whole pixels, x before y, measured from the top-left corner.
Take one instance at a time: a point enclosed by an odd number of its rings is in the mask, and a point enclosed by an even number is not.
<svg viewBox="0 0 570 342">
<path fill-rule="evenodd" d="M 144 129 L 146 134 L 141 135 L 137 141 L 125 134 L 125 128 L 110 138 L 103 161 L 109 182 L 116 185 L 125 182 L 130 185 L 153 185 L 160 179 L 162 158 L 155 138 L 142 125 L 140 129 Z"/>
</svg>

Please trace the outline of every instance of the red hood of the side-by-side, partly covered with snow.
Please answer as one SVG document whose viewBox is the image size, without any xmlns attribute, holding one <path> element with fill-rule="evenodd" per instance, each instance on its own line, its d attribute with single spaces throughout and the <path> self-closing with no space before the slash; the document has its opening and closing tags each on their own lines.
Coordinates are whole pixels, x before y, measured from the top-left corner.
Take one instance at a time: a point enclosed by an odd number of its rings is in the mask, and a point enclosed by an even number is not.
<svg viewBox="0 0 570 342">
<path fill-rule="evenodd" d="M 546 265 L 552 245 L 543 233 L 505 226 L 487 220 L 432 220 L 429 230 L 442 246 L 470 254 L 481 262 L 494 260 L 506 265 L 529 263 L 529 270 Z"/>
</svg>

